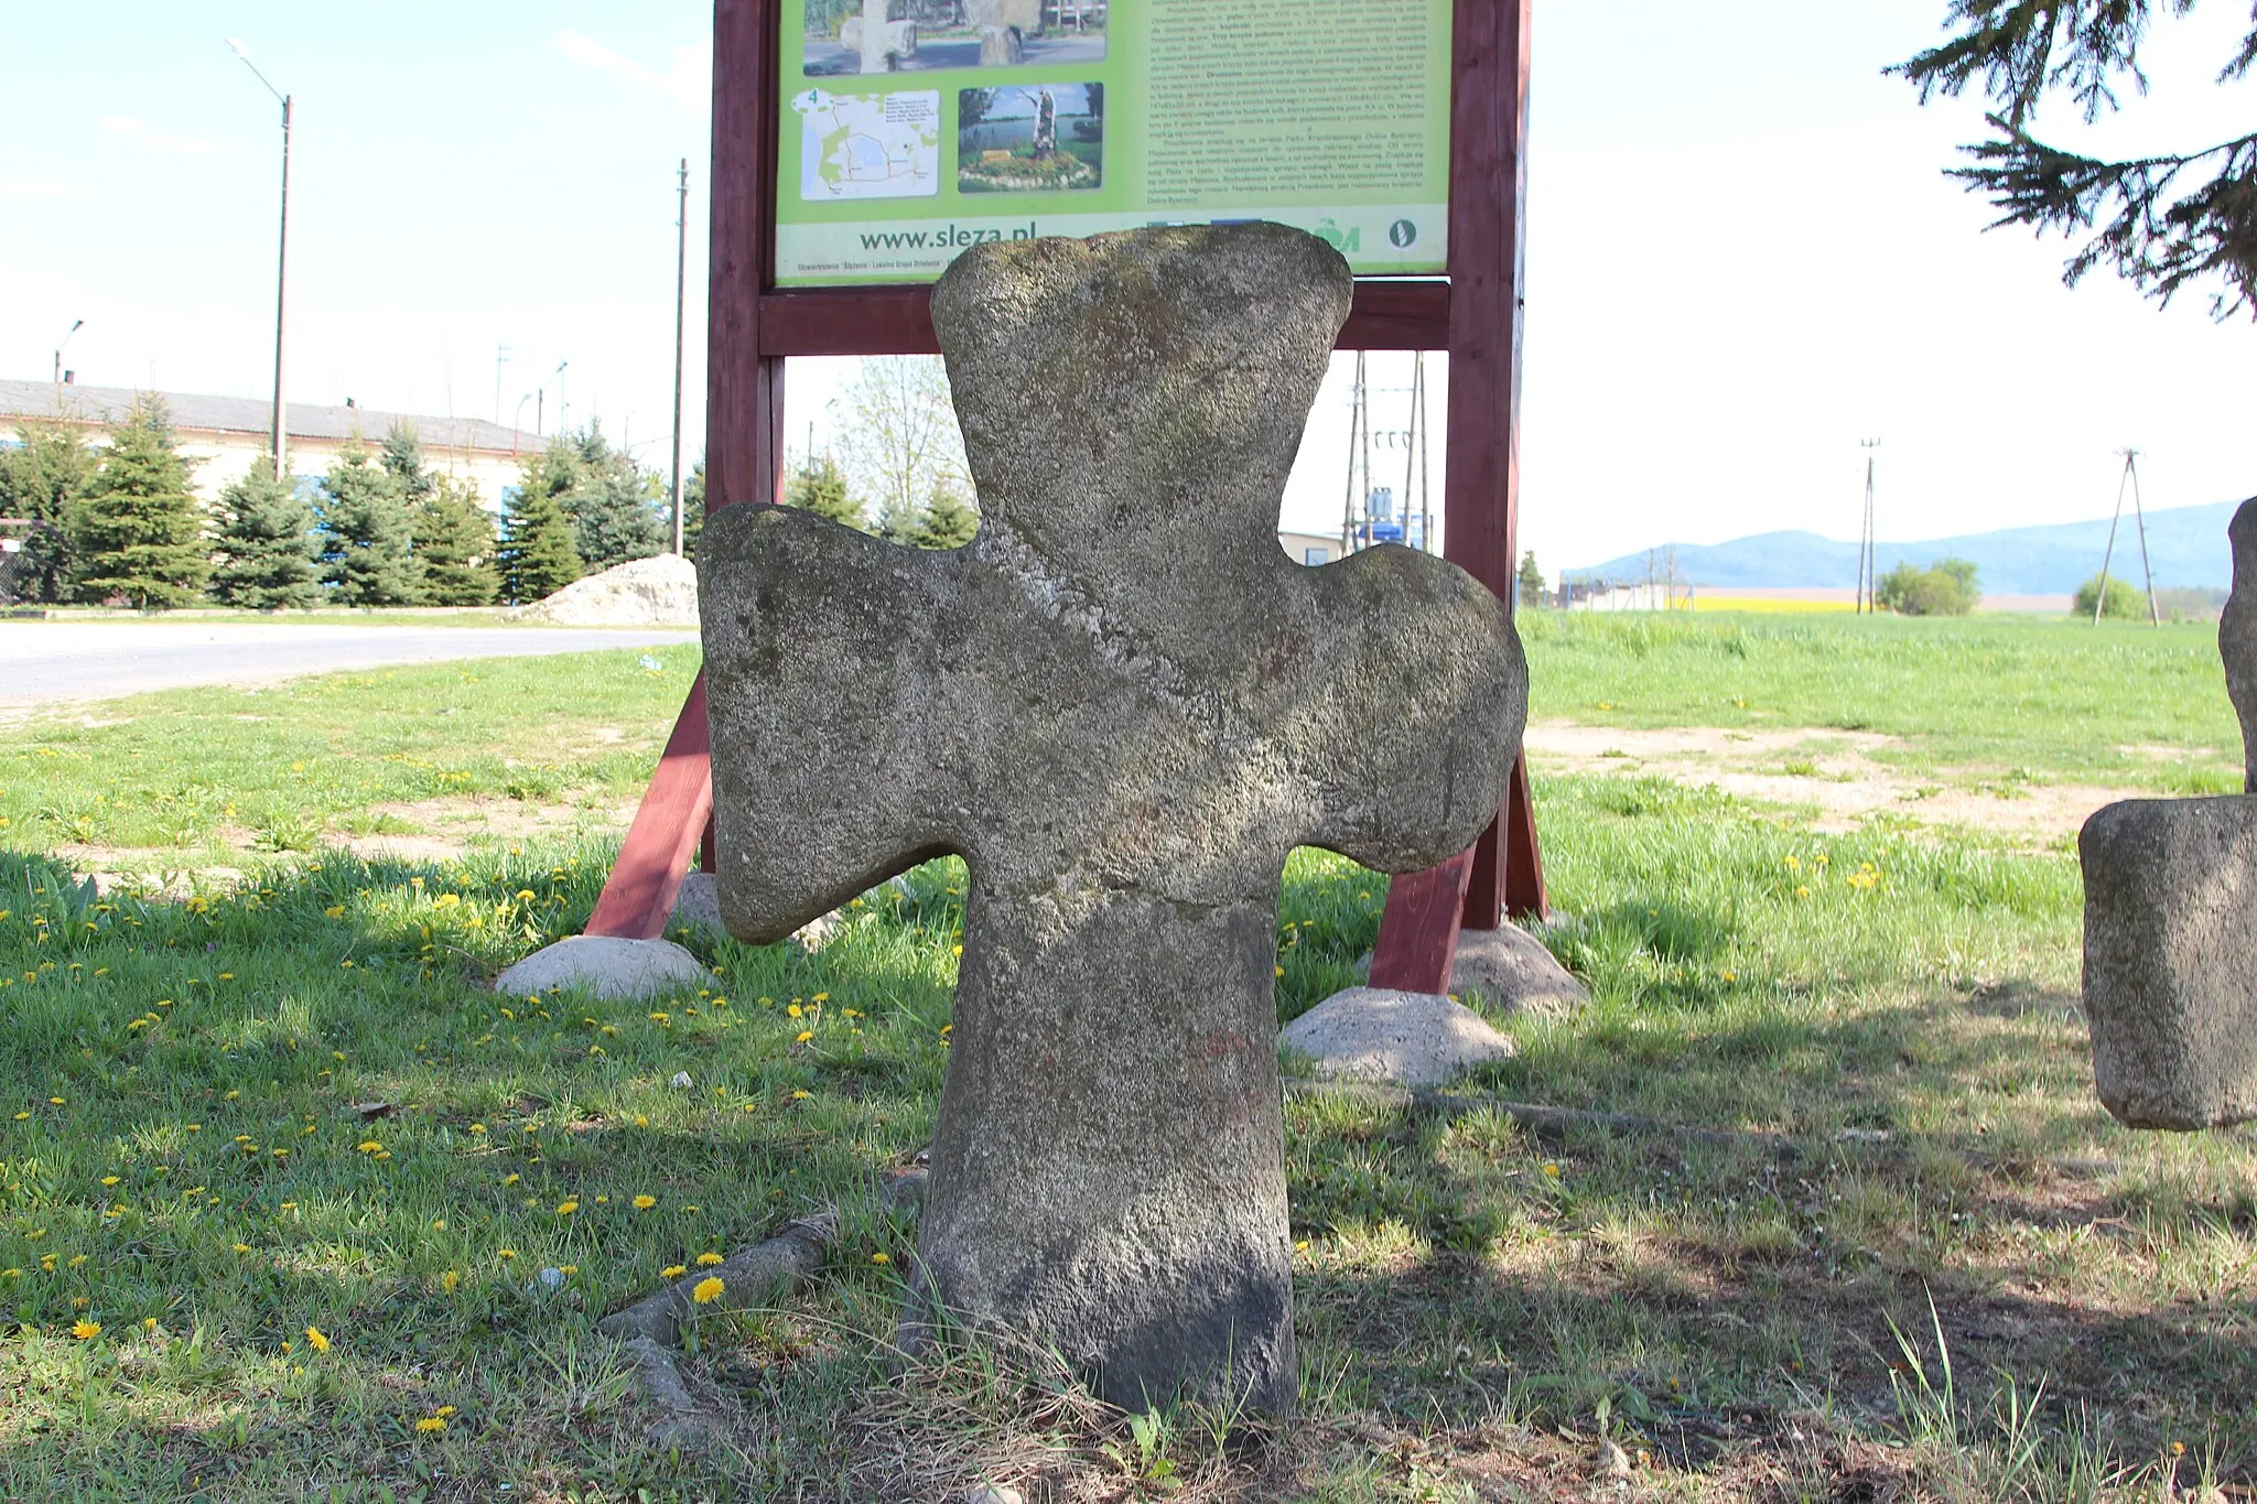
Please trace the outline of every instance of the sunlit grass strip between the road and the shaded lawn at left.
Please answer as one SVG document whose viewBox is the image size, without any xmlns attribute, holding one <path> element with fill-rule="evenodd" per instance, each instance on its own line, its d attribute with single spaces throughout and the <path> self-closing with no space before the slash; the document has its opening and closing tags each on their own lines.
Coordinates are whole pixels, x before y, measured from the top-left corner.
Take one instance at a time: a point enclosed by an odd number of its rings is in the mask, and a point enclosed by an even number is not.
<svg viewBox="0 0 2257 1504">
<path fill-rule="evenodd" d="M 695 672 L 682 645 L 79 706 L 0 749 L 0 843 L 185 870 L 481 803 L 609 812 L 641 791 Z"/>
</svg>

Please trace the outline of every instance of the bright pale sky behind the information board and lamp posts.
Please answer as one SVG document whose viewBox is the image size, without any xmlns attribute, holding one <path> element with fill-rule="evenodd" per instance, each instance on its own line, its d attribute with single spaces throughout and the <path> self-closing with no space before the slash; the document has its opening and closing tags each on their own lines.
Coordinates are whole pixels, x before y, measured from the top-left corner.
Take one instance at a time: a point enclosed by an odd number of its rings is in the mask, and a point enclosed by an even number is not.
<svg viewBox="0 0 2257 1504">
<path fill-rule="evenodd" d="M 2122 446 L 2149 507 L 2257 492 L 2257 322 L 2216 325 L 2192 293 L 2158 309 L 2108 273 L 2063 289 L 2061 239 L 1986 235 L 1988 205 L 1943 178 L 1979 101 L 1921 108 L 1880 74 L 1941 16 L 1537 0 L 1521 543 L 1548 573 L 1774 528 L 1853 537 L 1871 437 L 1891 541 L 2106 516 Z M 2248 131 L 2257 81 L 2212 83 L 2246 25 L 2203 0 L 2158 25 L 2151 97 L 2038 124 L 2099 151 Z M 293 399 L 596 417 L 664 467 L 688 158 L 700 451 L 706 5 L 0 0 L 0 374 L 50 372 L 84 318 L 84 383 L 271 390 L 280 110 L 235 36 L 298 101 Z M 828 444 L 851 370 L 792 365 L 794 442 L 813 424 Z M 1372 386 L 1406 388 L 1408 356 L 1375 354 Z M 1404 426 L 1402 392 L 1375 401 L 1375 428 Z M 1338 528 L 1345 417 L 1336 370 L 1286 523 Z"/>
</svg>

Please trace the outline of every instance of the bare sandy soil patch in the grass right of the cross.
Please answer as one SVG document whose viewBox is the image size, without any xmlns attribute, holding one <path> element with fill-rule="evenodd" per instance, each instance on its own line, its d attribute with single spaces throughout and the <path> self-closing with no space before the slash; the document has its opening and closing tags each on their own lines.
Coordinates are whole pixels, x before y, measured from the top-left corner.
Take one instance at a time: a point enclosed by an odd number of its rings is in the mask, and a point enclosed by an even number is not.
<svg viewBox="0 0 2257 1504">
<path fill-rule="evenodd" d="M 2074 837 L 2101 805 L 2153 789 L 2081 782 L 1984 782 L 1988 769 L 1912 773 L 1873 758 L 1907 746 L 1871 731 L 1722 731 L 1535 722 L 1526 749 L 1546 773 L 1614 773 L 1713 785 L 1733 798 L 1817 805 L 1812 830 L 1842 834 L 1873 816 L 1959 825 L 2045 846 Z"/>
</svg>

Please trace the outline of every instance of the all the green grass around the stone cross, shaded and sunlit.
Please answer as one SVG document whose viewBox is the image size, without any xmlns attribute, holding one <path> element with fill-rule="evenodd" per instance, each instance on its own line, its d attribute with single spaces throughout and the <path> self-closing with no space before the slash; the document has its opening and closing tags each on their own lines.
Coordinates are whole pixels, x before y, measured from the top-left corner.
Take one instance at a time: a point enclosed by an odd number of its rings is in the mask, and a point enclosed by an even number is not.
<svg viewBox="0 0 2257 1504">
<path fill-rule="evenodd" d="M 1537 713 L 1569 715 L 1573 683 L 1715 724 L 1670 697 L 1740 627 L 1654 620 L 1643 656 L 1634 627 L 1530 625 Z M 1993 670 L 1961 658 L 2020 645 L 2036 708 L 1988 733 L 1941 692 L 1873 699 L 1907 755 L 1988 735 L 2034 762 L 2088 692 L 2043 670 L 2076 647 L 2049 625 L 1867 627 L 1790 634 L 1763 667 L 1772 724 L 1824 724 L 1839 658 L 1977 683 Z M 2133 681 L 2180 672 L 2169 634 L 2110 652 Z M 330 841 L 377 805 L 524 805 L 508 780 L 528 767 L 616 805 L 686 685 L 688 654 L 664 661 L 142 697 L 0 753 L 0 1497 L 934 1499 L 989 1472 L 1056 1499 L 1469 1502 L 1582 1497 L 1598 1434 L 1636 1459 L 1632 1497 L 2099 1499 L 2252 1477 L 2257 1141 L 2131 1134 L 2092 1100 L 2074 859 L 1819 837 L 1654 778 L 1537 782 L 1562 913 L 1546 938 L 1596 1003 L 1512 1021 L 1519 1055 L 1469 1085 L 1742 1141 L 1537 1141 L 1490 1112 L 1296 1098 L 1298 1421 L 1128 1425 L 1040 1355 L 1031 1378 L 901 1369 L 914 1222 L 867 1193 L 930 1136 L 957 864 L 864 895 L 817 954 L 693 940 L 706 988 L 589 1006 L 488 979 L 578 929 L 600 839 L 370 864 L 226 834 L 251 809 Z M 2151 733 L 2113 710 L 2083 726 Z M 165 800 L 237 814 L 181 825 Z M 226 852 L 248 877 L 95 897 L 45 855 L 79 843 L 65 809 L 95 809 L 90 846 L 142 866 Z M 1354 979 L 1384 895 L 1343 859 L 1293 857 L 1282 1017 Z M 646 1443 L 648 1405 L 594 1321 L 831 1200 L 846 1236 L 810 1290 L 697 1330 L 686 1371 L 729 1445 Z"/>
</svg>

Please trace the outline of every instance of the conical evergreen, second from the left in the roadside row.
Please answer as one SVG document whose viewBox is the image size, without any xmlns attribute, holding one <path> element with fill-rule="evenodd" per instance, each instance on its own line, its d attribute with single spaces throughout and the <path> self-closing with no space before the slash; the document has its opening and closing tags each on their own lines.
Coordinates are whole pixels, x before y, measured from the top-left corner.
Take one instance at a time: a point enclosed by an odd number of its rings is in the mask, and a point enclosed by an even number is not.
<svg viewBox="0 0 2257 1504">
<path fill-rule="evenodd" d="M 212 564 L 203 510 L 187 489 L 190 467 L 172 449 L 165 399 L 135 399 L 68 514 L 79 600 L 124 598 L 142 611 L 196 600 Z"/>
</svg>

